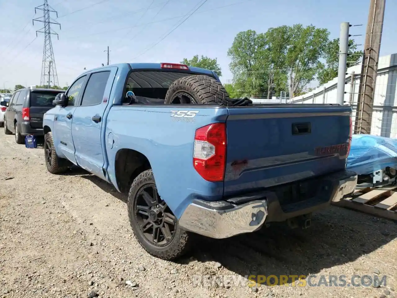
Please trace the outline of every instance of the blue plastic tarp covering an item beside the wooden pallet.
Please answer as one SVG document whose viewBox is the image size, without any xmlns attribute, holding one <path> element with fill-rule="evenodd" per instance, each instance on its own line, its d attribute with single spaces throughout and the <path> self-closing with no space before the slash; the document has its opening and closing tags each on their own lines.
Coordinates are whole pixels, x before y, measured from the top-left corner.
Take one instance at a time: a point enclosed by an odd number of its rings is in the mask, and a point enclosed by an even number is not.
<svg viewBox="0 0 397 298">
<path fill-rule="evenodd" d="M 376 135 L 353 135 L 347 168 L 359 175 L 385 167 L 397 168 L 397 139 Z"/>
</svg>

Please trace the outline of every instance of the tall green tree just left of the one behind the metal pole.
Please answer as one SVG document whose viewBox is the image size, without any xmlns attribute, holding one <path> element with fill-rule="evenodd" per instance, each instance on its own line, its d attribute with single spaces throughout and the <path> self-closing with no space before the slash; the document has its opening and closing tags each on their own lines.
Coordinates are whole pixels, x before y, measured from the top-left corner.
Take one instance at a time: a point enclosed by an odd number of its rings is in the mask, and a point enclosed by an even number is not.
<svg viewBox="0 0 397 298">
<path fill-rule="evenodd" d="M 301 93 L 322 67 L 320 58 L 328 44 L 329 35 L 327 29 L 313 25 L 303 27 L 302 24 L 296 24 L 289 27 L 290 42 L 285 63 L 288 69 L 289 94 L 292 97 Z"/>
</svg>

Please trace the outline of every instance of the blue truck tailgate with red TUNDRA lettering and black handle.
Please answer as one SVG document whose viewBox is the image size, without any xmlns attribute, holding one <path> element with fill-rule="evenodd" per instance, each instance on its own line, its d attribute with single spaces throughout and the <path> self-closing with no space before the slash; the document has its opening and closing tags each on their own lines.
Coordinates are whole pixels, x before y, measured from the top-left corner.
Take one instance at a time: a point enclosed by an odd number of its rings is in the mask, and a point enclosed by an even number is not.
<svg viewBox="0 0 397 298">
<path fill-rule="evenodd" d="M 228 108 L 224 195 L 343 170 L 351 108 Z"/>
</svg>

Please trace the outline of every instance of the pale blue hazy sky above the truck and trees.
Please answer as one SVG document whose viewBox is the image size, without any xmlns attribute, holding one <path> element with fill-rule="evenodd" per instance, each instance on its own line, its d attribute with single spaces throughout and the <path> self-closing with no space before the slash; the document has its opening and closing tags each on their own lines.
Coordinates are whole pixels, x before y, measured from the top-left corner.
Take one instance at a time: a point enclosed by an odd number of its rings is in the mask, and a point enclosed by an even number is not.
<svg viewBox="0 0 397 298">
<path fill-rule="evenodd" d="M 123 62 L 173 62 L 194 55 L 217 58 L 222 83 L 232 79 L 227 50 L 240 31 L 258 33 L 280 25 L 315 25 L 339 37 L 341 22 L 363 48 L 369 0 L 48 0 L 52 46 L 61 87 L 70 85 L 83 68 Z M 42 16 L 35 7 L 44 0 L 0 0 L 0 89 L 16 84 L 39 85 L 44 34 L 36 30 Z M 190 15 L 195 9 L 198 10 Z M 397 53 L 397 1 L 387 0 L 380 55 Z M 187 19 L 186 19 L 187 18 Z M 181 21 L 186 21 L 173 30 Z M 173 31 L 172 31 L 173 30 Z M 172 32 L 171 32 L 172 31 Z"/>
</svg>

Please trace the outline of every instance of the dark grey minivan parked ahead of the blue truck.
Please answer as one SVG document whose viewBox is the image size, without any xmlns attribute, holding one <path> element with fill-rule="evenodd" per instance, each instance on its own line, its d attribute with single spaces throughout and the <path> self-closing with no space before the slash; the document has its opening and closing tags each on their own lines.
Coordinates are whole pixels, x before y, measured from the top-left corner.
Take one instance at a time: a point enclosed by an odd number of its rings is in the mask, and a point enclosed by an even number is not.
<svg viewBox="0 0 397 298">
<path fill-rule="evenodd" d="M 64 90 L 24 88 L 14 92 L 4 114 L 4 133 L 15 134 L 15 142 L 25 143 L 25 135 L 44 135 L 43 115 Z"/>
</svg>

